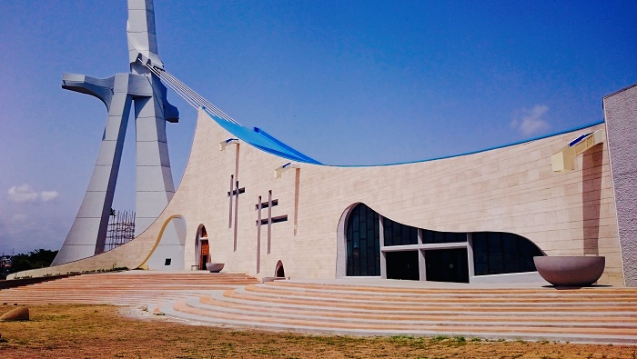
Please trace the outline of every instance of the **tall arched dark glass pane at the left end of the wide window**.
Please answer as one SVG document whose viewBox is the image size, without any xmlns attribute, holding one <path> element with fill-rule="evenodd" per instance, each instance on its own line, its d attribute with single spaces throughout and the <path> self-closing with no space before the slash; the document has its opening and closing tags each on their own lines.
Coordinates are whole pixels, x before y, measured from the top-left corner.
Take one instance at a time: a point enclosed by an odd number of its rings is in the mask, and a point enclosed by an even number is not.
<svg viewBox="0 0 637 359">
<path fill-rule="evenodd" d="M 346 239 L 349 276 L 380 275 L 379 214 L 357 204 L 349 214 Z"/>
</svg>

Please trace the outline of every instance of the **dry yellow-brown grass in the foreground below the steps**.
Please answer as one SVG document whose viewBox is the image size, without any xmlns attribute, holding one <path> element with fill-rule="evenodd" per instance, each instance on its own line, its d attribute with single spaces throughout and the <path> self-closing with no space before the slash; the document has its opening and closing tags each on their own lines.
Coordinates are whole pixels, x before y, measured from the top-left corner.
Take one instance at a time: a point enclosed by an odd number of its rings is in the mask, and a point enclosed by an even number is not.
<svg viewBox="0 0 637 359">
<path fill-rule="evenodd" d="M 0 314 L 13 306 L 0 305 Z M 637 347 L 550 342 L 304 335 L 136 320 L 110 305 L 33 305 L 0 323 L 0 358 L 636 358 Z"/>
</svg>

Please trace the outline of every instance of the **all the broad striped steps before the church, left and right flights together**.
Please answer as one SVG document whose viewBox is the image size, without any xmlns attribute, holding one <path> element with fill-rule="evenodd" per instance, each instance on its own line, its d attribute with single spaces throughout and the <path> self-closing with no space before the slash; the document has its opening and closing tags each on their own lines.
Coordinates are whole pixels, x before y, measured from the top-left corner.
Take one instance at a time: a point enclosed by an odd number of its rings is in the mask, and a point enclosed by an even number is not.
<svg viewBox="0 0 637 359">
<path fill-rule="evenodd" d="M 379 279 L 277 281 L 244 274 L 85 274 L 0 291 L 0 303 L 147 306 L 193 324 L 353 335 L 637 344 L 637 289 Z"/>
</svg>

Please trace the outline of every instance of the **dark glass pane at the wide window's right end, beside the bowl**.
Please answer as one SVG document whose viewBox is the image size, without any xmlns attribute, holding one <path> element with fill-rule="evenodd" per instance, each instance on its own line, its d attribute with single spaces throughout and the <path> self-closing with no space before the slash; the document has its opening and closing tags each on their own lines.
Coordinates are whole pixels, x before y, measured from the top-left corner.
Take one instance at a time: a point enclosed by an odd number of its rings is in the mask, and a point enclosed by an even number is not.
<svg viewBox="0 0 637 359">
<path fill-rule="evenodd" d="M 476 275 L 535 271 L 533 257 L 540 248 L 518 234 L 477 232 L 473 235 L 473 268 Z"/>
</svg>

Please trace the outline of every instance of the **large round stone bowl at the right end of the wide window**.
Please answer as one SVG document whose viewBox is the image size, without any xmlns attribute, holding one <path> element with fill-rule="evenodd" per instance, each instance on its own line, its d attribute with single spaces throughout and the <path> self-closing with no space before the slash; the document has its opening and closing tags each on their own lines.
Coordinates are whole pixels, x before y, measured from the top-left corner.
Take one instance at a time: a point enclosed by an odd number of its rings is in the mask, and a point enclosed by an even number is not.
<svg viewBox="0 0 637 359">
<path fill-rule="evenodd" d="M 558 286 L 587 286 L 597 282 L 604 272 L 602 256 L 537 256 L 535 267 L 544 280 Z"/>
</svg>

